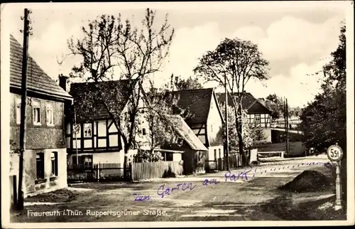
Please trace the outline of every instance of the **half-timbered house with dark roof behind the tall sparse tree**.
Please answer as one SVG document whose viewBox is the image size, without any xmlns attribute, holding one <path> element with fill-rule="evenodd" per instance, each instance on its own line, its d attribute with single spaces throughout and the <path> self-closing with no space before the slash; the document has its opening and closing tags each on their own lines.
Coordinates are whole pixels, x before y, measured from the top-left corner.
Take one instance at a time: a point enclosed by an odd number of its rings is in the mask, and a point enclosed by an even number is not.
<svg viewBox="0 0 355 229">
<path fill-rule="evenodd" d="M 95 100 L 95 87 L 116 92 L 110 95 L 115 112 L 127 112 L 131 89 L 129 80 L 77 82 L 70 85 L 74 104 L 67 124 L 68 164 L 85 164 L 92 167 L 99 163 L 116 163 L 124 166 L 124 144 L 119 125 L 101 102 Z M 90 96 L 91 95 L 91 96 Z"/>
</svg>

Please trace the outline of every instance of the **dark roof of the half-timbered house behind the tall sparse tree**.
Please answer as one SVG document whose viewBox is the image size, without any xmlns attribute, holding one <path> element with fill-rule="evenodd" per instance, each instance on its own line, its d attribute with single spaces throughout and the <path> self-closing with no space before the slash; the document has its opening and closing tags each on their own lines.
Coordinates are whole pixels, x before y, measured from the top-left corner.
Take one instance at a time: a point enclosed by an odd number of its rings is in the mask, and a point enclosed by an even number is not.
<svg viewBox="0 0 355 229">
<path fill-rule="evenodd" d="M 129 80 L 102 81 L 97 84 L 95 82 L 72 83 L 70 95 L 74 99 L 77 122 L 110 118 L 106 107 L 97 101 L 95 93 L 99 91 L 104 92 L 105 102 L 109 104 L 109 107 L 114 109 L 114 112 L 121 113 L 131 95 L 129 85 Z"/>
</svg>

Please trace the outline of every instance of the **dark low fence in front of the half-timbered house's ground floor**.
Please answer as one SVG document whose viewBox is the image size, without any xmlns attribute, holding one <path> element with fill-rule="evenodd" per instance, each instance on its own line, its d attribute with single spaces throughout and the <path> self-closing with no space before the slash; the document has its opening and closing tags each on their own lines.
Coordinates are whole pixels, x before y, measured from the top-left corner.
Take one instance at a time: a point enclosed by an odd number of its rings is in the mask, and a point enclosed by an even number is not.
<svg viewBox="0 0 355 229">
<path fill-rule="evenodd" d="M 127 176 L 124 178 L 124 167 L 119 163 L 67 164 L 67 182 L 94 182 L 94 181 L 126 181 L 130 180 L 130 168 L 126 168 Z"/>
</svg>

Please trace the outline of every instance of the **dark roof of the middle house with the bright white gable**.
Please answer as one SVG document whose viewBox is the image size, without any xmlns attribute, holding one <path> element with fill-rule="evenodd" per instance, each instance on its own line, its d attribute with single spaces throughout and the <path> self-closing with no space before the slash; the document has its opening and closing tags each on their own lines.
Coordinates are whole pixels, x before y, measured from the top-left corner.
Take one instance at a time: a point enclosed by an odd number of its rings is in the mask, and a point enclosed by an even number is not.
<svg viewBox="0 0 355 229">
<path fill-rule="evenodd" d="M 192 115 L 185 119 L 185 122 L 189 124 L 207 122 L 211 100 L 214 97 L 214 88 L 179 90 L 169 93 L 178 98 L 179 107 Z"/>
</svg>

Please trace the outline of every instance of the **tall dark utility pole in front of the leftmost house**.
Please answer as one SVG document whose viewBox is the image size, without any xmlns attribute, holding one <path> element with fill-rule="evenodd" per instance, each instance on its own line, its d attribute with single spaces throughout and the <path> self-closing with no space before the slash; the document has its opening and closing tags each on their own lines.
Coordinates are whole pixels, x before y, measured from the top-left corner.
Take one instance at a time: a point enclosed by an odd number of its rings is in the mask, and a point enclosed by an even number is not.
<svg viewBox="0 0 355 229">
<path fill-rule="evenodd" d="M 31 33 L 30 20 L 31 11 L 24 10 L 23 26 L 23 53 L 22 53 L 22 82 L 21 82 L 21 124 L 20 124 L 20 157 L 18 159 L 18 201 L 17 209 L 23 209 L 23 153 L 26 149 L 26 102 L 27 102 L 27 54 L 28 36 Z"/>
</svg>

